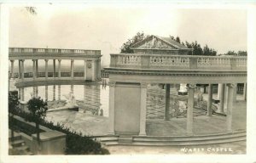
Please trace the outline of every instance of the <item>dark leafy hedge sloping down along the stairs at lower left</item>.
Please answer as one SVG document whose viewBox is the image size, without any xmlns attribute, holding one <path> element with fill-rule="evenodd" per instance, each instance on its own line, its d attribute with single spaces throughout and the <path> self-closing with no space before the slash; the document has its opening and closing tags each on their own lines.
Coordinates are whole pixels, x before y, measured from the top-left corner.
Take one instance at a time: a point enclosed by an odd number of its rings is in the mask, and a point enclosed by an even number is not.
<svg viewBox="0 0 256 163">
<path fill-rule="evenodd" d="M 24 119 L 29 119 L 29 116 L 31 116 L 31 114 L 21 110 L 16 111 L 15 115 L 19 115 Z M 67 134 L 65 149 L 66 155 L 109 155 L 108 149 L 102 148 L 101 143 L 97 142 L 96 139 L 93 139 L 90 136 L 83 136 L 80 132 L 71 131 L 68 127 L 60 125 L 59 123 L 54 125 L 53 122 L 44 121 L 44 119 L 40 119 L 39 124 L 46 126 L 51 130 Z M 16 125 L 19 128 L 21 126 L 20 123 L 16 123 Z M 32 131 L 32 129 L 29 129 L 29 131 Z"/>
</svg>

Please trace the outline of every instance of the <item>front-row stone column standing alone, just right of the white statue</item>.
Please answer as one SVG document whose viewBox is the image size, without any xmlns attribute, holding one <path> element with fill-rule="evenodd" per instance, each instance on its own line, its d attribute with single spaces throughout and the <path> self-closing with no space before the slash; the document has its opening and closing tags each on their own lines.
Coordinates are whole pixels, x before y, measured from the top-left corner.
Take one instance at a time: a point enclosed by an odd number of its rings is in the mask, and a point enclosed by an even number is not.
<svg viewBox="0 0 256 163">
<path fill-rule="evenodd" d="M 194 92 L 195 84 L 189 84 L 189 98 L 187 110 L 187 135 L 193 135 L 193 110 L 194 110 Z"/>
</svg>

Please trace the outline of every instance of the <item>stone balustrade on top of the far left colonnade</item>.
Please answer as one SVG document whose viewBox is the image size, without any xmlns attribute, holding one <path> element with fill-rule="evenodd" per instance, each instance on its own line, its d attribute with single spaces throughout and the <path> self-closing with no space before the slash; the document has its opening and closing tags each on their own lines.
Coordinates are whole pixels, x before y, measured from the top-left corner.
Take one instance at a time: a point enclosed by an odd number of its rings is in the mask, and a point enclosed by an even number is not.
<svg viewBox="0 0 256 163">
<path fill-rule="evenodd" d="M 60 48 L 9 48 L 9 53 L 73 53 L 73 54 L 101 54 L 101 50 L 60 49 Z"/>
</svg>

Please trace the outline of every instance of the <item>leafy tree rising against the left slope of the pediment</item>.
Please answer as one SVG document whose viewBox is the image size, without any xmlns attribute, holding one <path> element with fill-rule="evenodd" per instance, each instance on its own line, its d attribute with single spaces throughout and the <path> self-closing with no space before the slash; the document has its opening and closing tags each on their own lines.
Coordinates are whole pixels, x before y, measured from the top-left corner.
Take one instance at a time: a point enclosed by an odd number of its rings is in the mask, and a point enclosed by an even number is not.
<svg viewBox="0 0 256 163">
<path fill-rule="evenodd" d="M 131 39 L 128 39 L 128 41 L 122 45 L 122 47 L 120 48 L 120 53 L 134 53 L 133 50 L 131 49 L 131 46 L 137 42 L 142 41 L 144 38 L 145 35 L 143 32 L 137 32 L 136 36 L 132 37 Z"/>
</svg>

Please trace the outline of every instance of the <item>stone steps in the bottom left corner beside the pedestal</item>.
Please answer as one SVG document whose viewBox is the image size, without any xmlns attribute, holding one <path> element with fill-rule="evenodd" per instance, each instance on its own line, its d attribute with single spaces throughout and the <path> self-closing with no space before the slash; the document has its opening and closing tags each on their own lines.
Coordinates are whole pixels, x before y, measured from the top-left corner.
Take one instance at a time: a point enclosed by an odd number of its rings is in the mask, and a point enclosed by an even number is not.
<svg viewBox="0 0 256 163">
<path fill-rule="evenodd" d="M 21 135 L 15 132 L 14 140 L 11 141 L 11 131 L 9 130 L 9 155 L 33 155 L 29 147 L 26 146 L 25 141 Z"/>
</svg>

